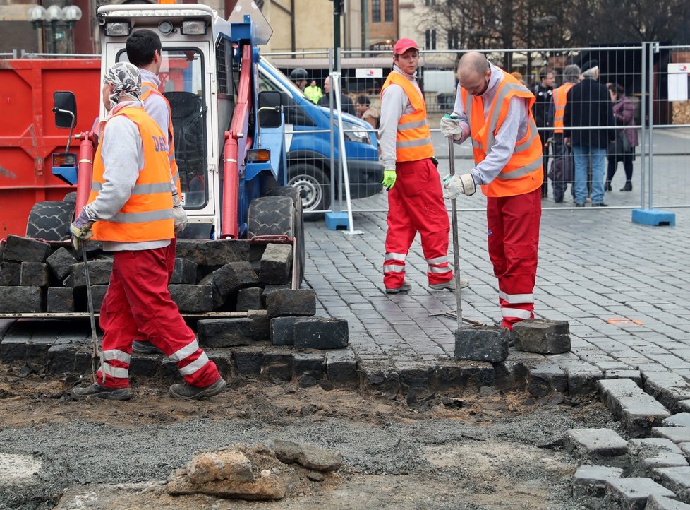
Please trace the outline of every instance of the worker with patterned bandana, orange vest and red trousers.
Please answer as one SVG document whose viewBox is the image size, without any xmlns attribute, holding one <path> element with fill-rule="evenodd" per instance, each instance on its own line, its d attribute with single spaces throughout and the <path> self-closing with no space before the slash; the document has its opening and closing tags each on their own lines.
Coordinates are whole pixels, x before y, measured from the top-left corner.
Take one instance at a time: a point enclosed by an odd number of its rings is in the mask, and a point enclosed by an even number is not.
<svg viewBox="0 0 690 510">
<path fill-rule="evenodd" d="M 102 241 L 113 254 L 113 268 L 99 318 L 97 382 L 71 396 L 132 398 L 129 365 L 138 331 L 177 362 L 185 382 L 170 387 L 172 397 L 216 395 L 226 383 L 168 291 L 175 224 L 167 136 L 145 112 L 141 76 L 132 64 L 119 62 L 106 71 L 102 95 L 109 115 L 93 160 L 91 196 L 71 232 L 75 249 L 90 237 Z"/>
</svg>

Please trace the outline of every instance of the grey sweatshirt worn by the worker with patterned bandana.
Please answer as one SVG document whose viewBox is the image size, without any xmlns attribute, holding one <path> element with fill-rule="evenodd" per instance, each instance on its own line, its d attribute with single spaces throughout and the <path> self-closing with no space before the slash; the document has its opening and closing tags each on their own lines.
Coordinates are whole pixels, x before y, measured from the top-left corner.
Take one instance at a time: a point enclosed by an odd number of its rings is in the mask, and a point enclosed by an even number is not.
<svg viewBox="0 0 690 510">
<path fill-rule="evenodd" d="M 123 108 L 143 108 L 140 101 L 121 102 L 111 115 Z M 101 136 L 104 167 L 103 186 L 95 201 L 84 206 L 91 220 L 109 220 L 119 213 L 132 194 L 144 167 L 144 146 L 138 126 L 123 115 L 107 121 Z M 146 242 L 103 242 L 105 251 L 139 251 L 167 247 L 170 239 Z"/>
</svg>

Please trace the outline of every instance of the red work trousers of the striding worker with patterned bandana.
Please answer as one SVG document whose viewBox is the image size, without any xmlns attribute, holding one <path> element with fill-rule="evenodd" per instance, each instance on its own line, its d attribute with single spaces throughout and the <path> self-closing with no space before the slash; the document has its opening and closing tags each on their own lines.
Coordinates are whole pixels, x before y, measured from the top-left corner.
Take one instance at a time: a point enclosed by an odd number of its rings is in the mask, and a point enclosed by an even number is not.
<svg viewBox="0 0 690 510">
<path fill-rule="evenodd" d="M 102 373 L 108 388 L 129 386 L 132 339 L 137 331 L 171 360 L 192 386 L 209 386 L 220 379 L 214 362 L 199 348 L 170 299 L 168 273 L 174 266 L 175 245 L 142 251 L 115 251 L 110 284 L 101 307 Z"/>
</svg>

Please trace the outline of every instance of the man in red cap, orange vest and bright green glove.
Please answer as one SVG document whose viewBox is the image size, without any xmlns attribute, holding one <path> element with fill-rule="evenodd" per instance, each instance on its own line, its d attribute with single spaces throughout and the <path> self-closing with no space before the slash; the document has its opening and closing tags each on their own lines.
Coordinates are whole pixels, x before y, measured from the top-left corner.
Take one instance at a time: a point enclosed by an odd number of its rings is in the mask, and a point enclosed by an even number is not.
<svg viewBox="0 0 690 510">
<path fill-rule="evenodd" d="M 384 165 L 381 184 L 388 194 L 388 232 L 383 263 L 387 294 L 408 292 L 405 259 L 420 233 L 432 290 L 455 290 L 448 266 L 450 225 L 436 170 L 426 105 L 415 78 L 419 49 L 411 39 L 393 47 L 393 70 L 381 89 L 380 147 Z M 461 281 L 461 287 L 468 285 Z"/>
</svg>

